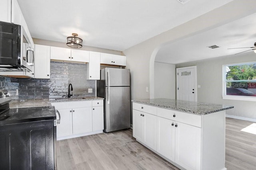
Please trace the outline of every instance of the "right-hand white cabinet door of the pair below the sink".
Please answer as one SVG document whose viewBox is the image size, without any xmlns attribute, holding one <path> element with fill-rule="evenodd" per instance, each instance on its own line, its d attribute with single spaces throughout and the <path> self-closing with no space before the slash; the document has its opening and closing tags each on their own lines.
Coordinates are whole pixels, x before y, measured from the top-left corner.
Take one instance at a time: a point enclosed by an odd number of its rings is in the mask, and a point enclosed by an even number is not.
<svg viewBox="0 0 256 170">
<path fill-rule="evenodd" d="M 92 107 L 72 109 L 73 135 L 92 132 Z"/>
</svg>

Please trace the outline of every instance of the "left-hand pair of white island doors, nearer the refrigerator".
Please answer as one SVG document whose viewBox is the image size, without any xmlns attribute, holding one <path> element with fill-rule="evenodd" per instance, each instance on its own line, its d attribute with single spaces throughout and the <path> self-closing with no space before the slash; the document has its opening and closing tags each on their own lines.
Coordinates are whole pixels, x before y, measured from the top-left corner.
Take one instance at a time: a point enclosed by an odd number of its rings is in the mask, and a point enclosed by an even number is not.
<svg viewBox="0 0 256 170">
<path fill-rule="evenodd" d="M 156 115 L 133 110 L 133 136 L 156 150 Z"/>
</svg>

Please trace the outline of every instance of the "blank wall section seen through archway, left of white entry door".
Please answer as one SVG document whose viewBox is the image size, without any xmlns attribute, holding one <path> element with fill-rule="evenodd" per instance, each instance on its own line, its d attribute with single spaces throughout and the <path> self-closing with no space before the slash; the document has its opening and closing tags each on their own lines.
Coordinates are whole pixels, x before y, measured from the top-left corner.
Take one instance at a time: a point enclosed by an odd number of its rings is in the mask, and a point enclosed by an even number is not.
<svg viewBox="0 0 256 170">
<path fill-rule="evenodd" d="M 155 62 L 154 98 L 176 99 L 175 64 Z"/>
</svg>

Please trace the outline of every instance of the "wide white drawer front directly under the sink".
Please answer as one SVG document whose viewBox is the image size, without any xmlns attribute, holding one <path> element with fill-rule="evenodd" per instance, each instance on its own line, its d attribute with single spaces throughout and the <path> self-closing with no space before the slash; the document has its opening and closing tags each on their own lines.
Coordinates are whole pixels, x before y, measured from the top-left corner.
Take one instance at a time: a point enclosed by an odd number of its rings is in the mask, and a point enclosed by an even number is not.
<svg viewBox="0 0 256 170">
<path fill-rule="evenodd" d="M 55 107 L 55 109 L 92 107 L 92 101 L 53 102 L 51 104 Z"/>
</svg>

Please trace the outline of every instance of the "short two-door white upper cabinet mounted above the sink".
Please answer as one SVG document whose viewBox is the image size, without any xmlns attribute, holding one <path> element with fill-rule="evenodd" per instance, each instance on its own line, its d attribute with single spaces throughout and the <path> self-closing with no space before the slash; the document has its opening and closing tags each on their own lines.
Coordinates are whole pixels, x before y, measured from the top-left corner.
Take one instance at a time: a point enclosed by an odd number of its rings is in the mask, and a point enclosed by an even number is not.
<svg viewBox="0 0 256 170">
<path fill-rule="evenodd" d="M 89 62 L 89 51 L 51 47 L 51 60 Z"/>
</svg>

